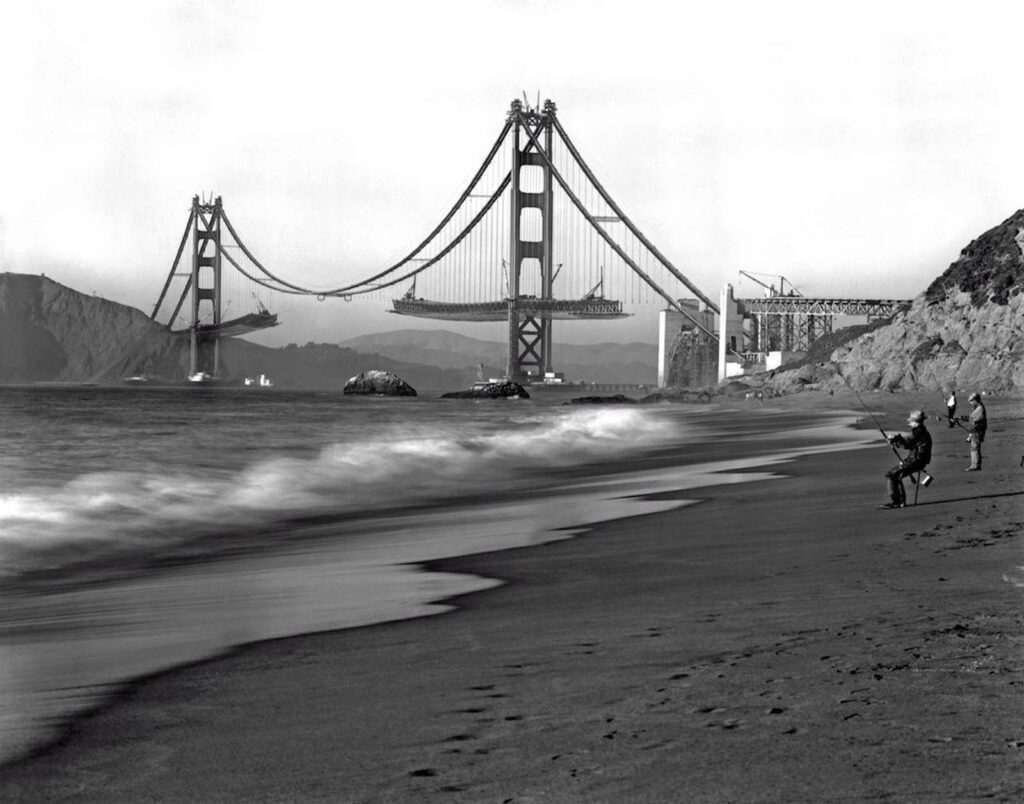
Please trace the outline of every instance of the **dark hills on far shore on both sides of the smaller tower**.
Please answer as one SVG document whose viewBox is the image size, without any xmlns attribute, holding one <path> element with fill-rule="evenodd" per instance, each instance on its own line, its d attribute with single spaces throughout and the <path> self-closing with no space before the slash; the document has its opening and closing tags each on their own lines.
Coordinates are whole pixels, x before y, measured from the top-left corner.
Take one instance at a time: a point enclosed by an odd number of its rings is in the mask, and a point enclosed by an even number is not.
<svg viewBox="0 0 1024 804">
<path fill-rule="evenodd" d="M 470 385 L 475 371 L 422 366 L 334 344 L 283 349 L 221 341 L 223 376 L 268 375 L 278 387 L 341 389 L 369 369 L 391 371 L 418 390 Z M 45 277 L 0 273 L 0 383 L 117 384 L 146 374 L 184 381 L 188 341 L 141 310 L 72 290 Z"/>
</svg>

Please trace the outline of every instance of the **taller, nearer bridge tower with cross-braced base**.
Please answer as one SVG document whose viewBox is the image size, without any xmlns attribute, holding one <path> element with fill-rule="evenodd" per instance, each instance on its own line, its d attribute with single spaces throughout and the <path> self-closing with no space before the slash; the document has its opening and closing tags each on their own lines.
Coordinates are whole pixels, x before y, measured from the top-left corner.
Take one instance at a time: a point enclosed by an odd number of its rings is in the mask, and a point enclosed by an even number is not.
<svg viewBox="0 0 1024 804">
<path fill-rule="evenodd" d="M 554 204 L 551 143 L 556 107 L 545 100 L 541 110 L 523 111 L 522 102 L 512 101 L 512 203 L 509 244 L 509 352 L 507 376 L 520 382 L 532 375 L 543 379 L 551 365 L 551 319 L 520 309 L 520 285 L 524 271 L 538 271 L 542 299 L 553 298 L 552 265 Z M 529 137 L 522 144 L 520 120 L 525 121 L 539 141 L 543 140 L 546 160 Z M 542 137 L 543 135 L 543 137 Z M 538 181 L 540 178 L 540 181 Z M 523 240 L 524 232 L 529 240 Z"/>
</svg>

